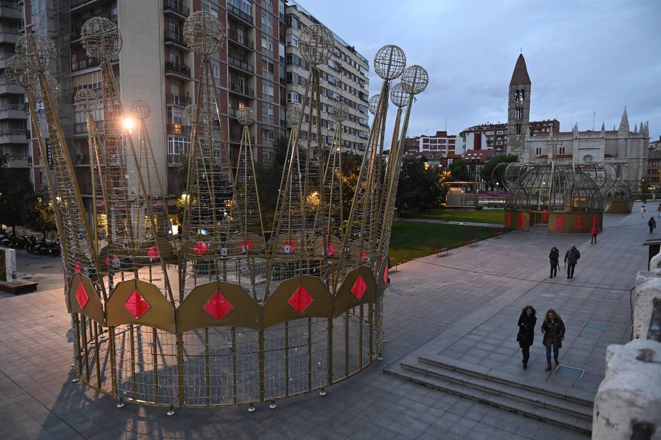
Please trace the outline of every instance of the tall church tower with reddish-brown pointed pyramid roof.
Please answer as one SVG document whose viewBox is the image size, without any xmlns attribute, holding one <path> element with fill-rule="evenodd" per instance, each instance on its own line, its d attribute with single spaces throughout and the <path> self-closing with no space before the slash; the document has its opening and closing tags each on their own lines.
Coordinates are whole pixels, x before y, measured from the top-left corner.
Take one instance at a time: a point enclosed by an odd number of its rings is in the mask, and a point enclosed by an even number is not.
<svg viewBox="0 0 661 440">
<path fill-rule="evenodd" d="M 524 151 L 525 133 L 528 131 L 531 84 L 524 55 L 520 54 L 510 80 L 507 114 L 507 152 L 519 157 Z"/>
</svg>

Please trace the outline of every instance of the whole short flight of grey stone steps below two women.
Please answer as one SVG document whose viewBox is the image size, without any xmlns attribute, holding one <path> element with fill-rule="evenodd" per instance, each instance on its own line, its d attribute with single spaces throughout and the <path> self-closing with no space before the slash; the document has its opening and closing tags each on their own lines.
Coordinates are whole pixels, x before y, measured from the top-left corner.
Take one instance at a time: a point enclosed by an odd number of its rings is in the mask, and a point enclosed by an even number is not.
<svg viewBox="0 0 661 440">
<path fill-rule="evenodd" d="M 549 389 L 549 384 L 457 361 L 442 355 L 422 355 L 403 361 L 385 373 L 444 392 L 477 400 L 580 433 L 592 432 L 594 397 L 580 390 Z"/>
</svg>

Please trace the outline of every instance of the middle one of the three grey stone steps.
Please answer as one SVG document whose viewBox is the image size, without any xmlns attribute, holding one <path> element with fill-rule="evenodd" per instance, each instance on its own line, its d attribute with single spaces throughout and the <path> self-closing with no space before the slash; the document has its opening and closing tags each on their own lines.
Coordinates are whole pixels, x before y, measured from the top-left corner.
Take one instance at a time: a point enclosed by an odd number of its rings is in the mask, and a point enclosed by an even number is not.
<svg viewBox="0 0 661 440">
<path fill-rule="evenodd" d="M 513 398 L 541 408 L 549 408 L 550 410 L 573 416 L 577 419 L 587 420 L 592 423 L 592 406 L 569 402 L 564 398 L 550 396 L 549 394 L 519 388 L 518 386 L 502 382 L 495 382 L 483 377 L 477 377 L 459 371 L 429 365 L 427 363 L 418 362 L 410 365 L 402 363 L 402 367 L 404 369 L 410 369 L 416 373 L 435 376 L 439 379 L 445 379 L 446 381 L 457 383 L 459 385 L 471 386 L 471 388 L 477 390 L 485 390 L 492 394 Z"/>
</svg>

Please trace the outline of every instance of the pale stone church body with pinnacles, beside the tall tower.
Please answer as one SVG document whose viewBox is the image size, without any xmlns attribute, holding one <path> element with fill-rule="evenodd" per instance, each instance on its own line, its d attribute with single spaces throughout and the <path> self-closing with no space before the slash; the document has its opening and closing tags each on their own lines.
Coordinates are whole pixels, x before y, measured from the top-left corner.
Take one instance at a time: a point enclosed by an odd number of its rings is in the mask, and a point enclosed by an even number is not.
<svg viewBox="0 0 661 440">
<path fill-rule="evenodd" d="M 614 128 L 614 127 L 613 127 Z M 649 126 L 641 122 L 629 128 L 625 107 L 618 129 L 579 131 L 578 124 L 572 131 L 550 131 L 525 136 L 525 149 L 520 161 L 545 162 L 572 161 L 575 163 L 606 162 L 617 166 L 622 180 L 633 190 L 641 189 L 642 179 L 648 174 Z"/>
</svg>

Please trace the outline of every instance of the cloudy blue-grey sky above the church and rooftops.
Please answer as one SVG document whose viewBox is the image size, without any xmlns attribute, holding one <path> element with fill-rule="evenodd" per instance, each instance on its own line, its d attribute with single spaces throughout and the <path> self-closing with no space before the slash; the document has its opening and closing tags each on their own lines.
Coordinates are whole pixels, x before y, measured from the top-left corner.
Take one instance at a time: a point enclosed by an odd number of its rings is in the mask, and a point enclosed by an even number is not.
<svg viewBox="0 0 661 440">
<path fill-rule="evenodd" d="M 299 0 L 369 59 L 370 95 L 381 79 L 373 57 L 397 44 L 430 85 L 412 108 L 409 135 L 458 134 L 507 121 L 507 93 L 523 47 L 532 81 L 530 119 L 563 131 L 650 122 L 661 135 L 661 1 Z M 348 12 L 350 11 L 350 12 Z M 395 80 L 397 82 L 397 80 Z M 394 107 L 391 106 L 391 109 Z M 394 110 L 389 112 L 394 119 Z M 388 137 L 387 137 L 388 138 Z"/>
</svg>

